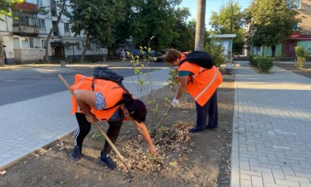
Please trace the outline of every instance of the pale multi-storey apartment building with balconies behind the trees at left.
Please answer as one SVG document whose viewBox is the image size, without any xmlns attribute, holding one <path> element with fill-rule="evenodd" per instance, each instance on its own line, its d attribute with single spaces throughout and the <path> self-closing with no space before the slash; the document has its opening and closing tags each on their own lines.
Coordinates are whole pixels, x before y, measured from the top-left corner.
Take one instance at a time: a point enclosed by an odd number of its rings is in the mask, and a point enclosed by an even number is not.
<svg viewBox="0 0 311 187">
<path fill-rule="evenodd" d="M 40 7 L 49 8 L 48 14 L 39 12 Z M 70 11 L 69 6 L 66 9 Z M 3 16 L 0 35 L 6 46 L 6 62 L 28 63 L 44 61 L 46 38 L 57 22 L 55 0 L 26 0 L 12 8 L 13 17 Z M 52 60 L 78 59 L 82 55 L 86 35 L 75 36 L 71 32 L 68 17 L 62 16 L 50 39 L 48 55 Z M 86 55 L 104 56 L 106 48 L 88 44 Z"/>
</svg>

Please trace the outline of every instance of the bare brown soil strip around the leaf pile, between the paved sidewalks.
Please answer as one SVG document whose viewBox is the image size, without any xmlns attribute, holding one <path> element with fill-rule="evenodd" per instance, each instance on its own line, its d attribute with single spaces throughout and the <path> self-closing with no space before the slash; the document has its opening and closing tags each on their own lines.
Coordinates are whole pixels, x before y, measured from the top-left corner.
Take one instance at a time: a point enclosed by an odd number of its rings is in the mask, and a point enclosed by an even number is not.
<svg viewBox="0 0 311 187">
<path fill-rule="evenodd" d="M 156 91 L 155 96 L 157 101 L 162 102 L 163 98 L 173 98 L 174 94 L 164 87 Z M 172 109 L 165 118 L 165 127 L 172 127 L 180 122 L 195 124 L 196 109 L 193 100 L 189 96 L 186 98 L 185 105 Z M 84 157 L 79 161 L 71 161 L 71 133 L 6 168 L 7 173 L 0 176 L 0 186 L 229 186 L 233 107 L 234 76 L 224 76 L 224 82 L 218 89 L 218 130 L 191 134 L 190 144 L 193 150 L 187 153 L 185 161 L 176 161 L 160 171 L 135 170 L 135 180 L 131 183 L 123 180 L 124 166 L 110 171 L 100 163 L 99 155 L 104 143 L 92 139 L 91 133 L 84 141 Z M 162 113 L 165 111 L 167 107 L 161 109 Z M 149 115 L 148 125 L 154 126 L 156 122 Z M 95 127 L 91 132 L 97 132 Z M 124 123 L 120 134 L 138 136 L 132 123 Z M 116 143 L 117 148 L 124 144 L 126 142 L 122 139 L 118 139 Z M 147 154 L 146 143 L 140 143 L 139 147 Z M 172 152 L 179 154 L 176 150 Z M 137 158 L 136 161 L 139 163 L 143 160 Z"/>
</svg>

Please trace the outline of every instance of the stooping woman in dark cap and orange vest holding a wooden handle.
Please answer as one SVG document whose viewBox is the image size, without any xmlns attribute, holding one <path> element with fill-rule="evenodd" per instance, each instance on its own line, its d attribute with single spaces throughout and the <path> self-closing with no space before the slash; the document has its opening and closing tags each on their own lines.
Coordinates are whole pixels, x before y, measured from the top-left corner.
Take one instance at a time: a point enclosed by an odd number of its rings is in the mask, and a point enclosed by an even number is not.
<svg viewBox="0 0 311 187">
<path fill-rule="evenodd" d="M 72 97 L 72 114 L 77 118 L 78 127 L 75 130 L 75 148 L 71 159 L 77 161 L 82 158 L 82 143 L 91 130 L 91 123 L 107 121 L 109 129 L 107 136 L 113 143 L 117 140 L 122 121 L 133 121 L 138 132 L 144 137 L 149 145 L 149 152 L 156 154 L 149 132 L 144 121 L 147 109 L 144 103 L 133 99 L 131 94 L 126 93 L 119 84 L 110 81 L 75 75 L 75 82 L 70 87 L 75 92 Z M 101 152 L 101 161 L 110 168 L 115 169 L 117 165 L 110 157 L 111 146 L 105 141 L 104 149 Z"/>
</svg>

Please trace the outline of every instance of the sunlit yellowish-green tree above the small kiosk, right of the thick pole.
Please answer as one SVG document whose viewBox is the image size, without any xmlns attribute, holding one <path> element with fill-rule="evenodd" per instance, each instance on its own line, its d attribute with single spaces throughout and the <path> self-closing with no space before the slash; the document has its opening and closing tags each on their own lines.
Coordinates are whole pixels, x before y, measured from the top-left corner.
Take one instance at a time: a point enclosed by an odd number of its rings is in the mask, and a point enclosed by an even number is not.
<svg viewBox="0 0 311 187">
<path fill-rule="evenodd" d="M 232 30 L 233 33 L 236 34 L 236 38 L 234 38 L 233 42 L 233 52 L 242 53 L 245 44 L 243 29 L 245 21 L 244 14 L 237 2 L 233 3 L 232 6 L 231 3 L 227 3 L 225 6 L 222 6 L 218 12 L 213 11 L 210 20 L 211 28 L 216 34 L 231 33 L 231 12 L 233 12 Z"/>
</svg>

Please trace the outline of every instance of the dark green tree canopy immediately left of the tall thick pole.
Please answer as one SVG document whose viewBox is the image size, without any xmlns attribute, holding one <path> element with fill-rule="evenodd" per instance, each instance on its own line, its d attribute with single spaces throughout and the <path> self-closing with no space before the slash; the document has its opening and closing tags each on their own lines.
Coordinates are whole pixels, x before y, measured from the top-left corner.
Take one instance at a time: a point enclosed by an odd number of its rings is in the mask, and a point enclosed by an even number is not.
<svg viewBox="0 0 311 187">
<path fill-rule="evenodd" d="M 131 24 L 133 44 L 136 47 L 142 46 L 149 42 L 151 36 L 155 36 L 151 47 L 156 51 L 172 45 L 180 46 L 180 44 L 176 44 L 176 39 L 185 33 L 177 32 L 174 29 L 183 30 L 182 28 L 185 27 L 178 26 L 178 24 L 185 25 L 185 19 L 189 16 L 189 10 L 175 9 L 180 2 L 180 0 L 135 0 L 132 7 L 134 14 Z"/>
</svg>

